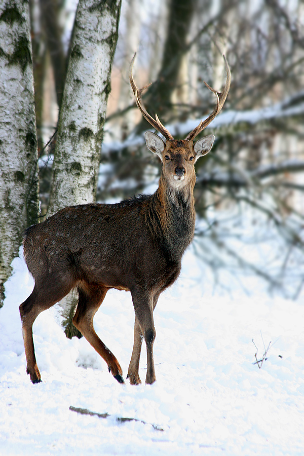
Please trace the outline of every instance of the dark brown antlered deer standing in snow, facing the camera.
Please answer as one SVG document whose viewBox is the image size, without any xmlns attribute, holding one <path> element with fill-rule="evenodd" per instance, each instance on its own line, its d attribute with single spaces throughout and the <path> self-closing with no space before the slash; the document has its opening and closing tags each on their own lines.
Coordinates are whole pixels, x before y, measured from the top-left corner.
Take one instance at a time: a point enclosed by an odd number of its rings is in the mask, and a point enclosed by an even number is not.
<svg viewBox="0 0 304 456">
<path fill-rule="evenodd" d="M 136 55 L 136 54 L 135 54 Z M 134 344 L 128 375 L 131 385 L 141 384 L 139 360 L 142 341 L 147 355 L 146 384 L 156 381 L 153 346 L 156 338 L 153 312 L 160 294 L 176 281 L 181 258 L 194 237 L 194 164 L 209 153 L 215 137 L 204 136 L 194 142 L 221 110 L 229 92 L 231 74 L 225 61 L 226 83 L 216 92 L 211 115 L 187 135 L 174 139 L 160 122 L 146 111 L 143 87 L 129 78 L 137 107 L 159 133 L 145 132 L 148 149 L 162 162 L 157 191 L 117 204 L 84 204 L 59 210 L 39 224 L 28 227 L 23 241 L 27 268 L 34 278 L 30 296 L 19 307 L 26 372 L 33 384 L 40 383 L 32 326 L 36 317 L 51 308 L 75 287 L 79 300 L 72 319 L 74 326 L 106 362 L 109 372 L 125 383 L 123 370 L 112 352 L 94 330 L 93 318 L 108 290 L 130 291 L 135 312 Z"/>
</svg>

